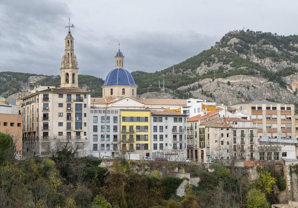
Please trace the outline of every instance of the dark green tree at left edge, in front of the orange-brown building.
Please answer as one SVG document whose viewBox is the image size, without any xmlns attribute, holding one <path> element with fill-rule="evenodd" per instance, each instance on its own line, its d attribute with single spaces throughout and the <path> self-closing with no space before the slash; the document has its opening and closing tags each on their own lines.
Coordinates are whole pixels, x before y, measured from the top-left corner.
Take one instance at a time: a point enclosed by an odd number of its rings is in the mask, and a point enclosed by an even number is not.
<svg viewBox="0 0 298 208">
<path fill-rule="evenodd" d="M 6 160 L 13 160 L 15 154 L 15 144 L 9 134 L 0 132 L 0 164 Z"/>
</svg>

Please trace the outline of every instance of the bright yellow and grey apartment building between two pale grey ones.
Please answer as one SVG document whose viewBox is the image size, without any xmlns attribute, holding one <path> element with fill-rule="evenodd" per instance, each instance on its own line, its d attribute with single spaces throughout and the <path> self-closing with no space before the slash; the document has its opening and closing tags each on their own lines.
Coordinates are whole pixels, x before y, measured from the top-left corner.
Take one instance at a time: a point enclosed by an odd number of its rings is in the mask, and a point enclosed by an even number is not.
<svg viewBox="0 0 298 208">
<path fill-rule="evenodd" d="M 150 110 L 120 109 L 120 148 L 128 159 L 150 156 Z"/>
</svg>

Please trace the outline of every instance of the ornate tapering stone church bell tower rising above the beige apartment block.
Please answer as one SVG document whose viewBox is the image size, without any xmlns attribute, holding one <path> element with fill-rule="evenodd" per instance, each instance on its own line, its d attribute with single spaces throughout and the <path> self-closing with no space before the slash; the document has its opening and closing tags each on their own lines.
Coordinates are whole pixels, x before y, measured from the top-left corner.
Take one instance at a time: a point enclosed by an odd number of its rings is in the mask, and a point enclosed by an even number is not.
<svg viewBox="0 0 298 208">
<path fill-rule="evenodd" d="M 77 57 L 74 51 L 74 38 L 69 30 L 65 38 L 65 54 L 62 56 L 60 67 L 60 87 L 78 87 L 77 74 L 79 68 L 77 67 Z"/>
</svg>

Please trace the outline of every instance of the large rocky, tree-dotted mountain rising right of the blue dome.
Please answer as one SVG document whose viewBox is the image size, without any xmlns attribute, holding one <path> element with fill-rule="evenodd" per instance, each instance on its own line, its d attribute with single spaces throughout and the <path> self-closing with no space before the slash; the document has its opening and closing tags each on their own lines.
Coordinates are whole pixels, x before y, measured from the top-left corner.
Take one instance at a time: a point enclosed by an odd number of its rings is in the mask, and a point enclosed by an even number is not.
<svg viewBox="0 0 298 208">
<path fill-rule="evenodd" d="M 210 49 L 165 70 L 137 76 L 138 94 L 167 92 L 225 104 L 298 103 L 298 36 L 231 31 Z M 132 75 L 134 76 L 133 72 Z M 158 82 L 164 79 L 165 88 Z"/>
</svg>

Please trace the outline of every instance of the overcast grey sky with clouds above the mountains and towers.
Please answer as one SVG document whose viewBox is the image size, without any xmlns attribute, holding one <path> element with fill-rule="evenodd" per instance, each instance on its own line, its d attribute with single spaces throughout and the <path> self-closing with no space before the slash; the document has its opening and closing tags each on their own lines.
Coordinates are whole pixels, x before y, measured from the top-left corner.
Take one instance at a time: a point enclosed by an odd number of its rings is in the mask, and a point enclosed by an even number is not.
<svg viewBox="0 0 298 208">
<path fill-rule="evenodd" d="M 68 15 L 79 74 L 105 79 L 120 50 L 128 71 L 152 72 L 243 26 L 297 34 L 298 1 L 0 0 L 0 71 L 59 75 Z"/>
</svg>

